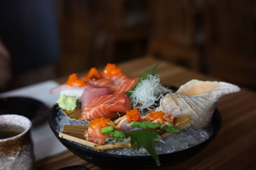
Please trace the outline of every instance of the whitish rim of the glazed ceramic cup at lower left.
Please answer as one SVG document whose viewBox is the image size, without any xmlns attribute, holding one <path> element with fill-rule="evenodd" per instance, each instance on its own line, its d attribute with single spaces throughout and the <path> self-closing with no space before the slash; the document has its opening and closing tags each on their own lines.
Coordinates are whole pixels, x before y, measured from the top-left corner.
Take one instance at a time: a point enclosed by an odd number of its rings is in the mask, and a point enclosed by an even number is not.
<svg viewBox="0 0 256 170">
<path fill-rule="evenodd" d="M 26 124 L 26 127 L 24 127 L 24 131 L 22 131 L 21 133 L 17 134 L 16 136 L 12 136 L 10 138 L 4 138 L 4 139 L 0 139 L 0 143 L 1 142 L 4 142 L 4 141 L 10 141 L 10 140 L 13 140 L 13 139 L 16 139 L 16 138 L 19 138 L 20 136 L 23 136 L 24 134 L 26 134 L 28 131 L 30 131 L 31 129 L 31 121 L 22 116 L 22 115 L 16 115 L 16 114 L 4 114 L 4 115 L 0 115 L 0 124 L 1 124 L 1 120 L 3 120 L 3 118 L 21 118 L 22 119 L 22 122 L 24 124 Z M 3 123 L 4 124 L 4 123 Z M 17 124 L 18 125 L 18 124 Z M 18 125 L 20 126 L 20 125 Z M 24 125 L 25 126 L 25 125 Z M 23 127 L 23 126 L 22 126 Z"/>
</svg>

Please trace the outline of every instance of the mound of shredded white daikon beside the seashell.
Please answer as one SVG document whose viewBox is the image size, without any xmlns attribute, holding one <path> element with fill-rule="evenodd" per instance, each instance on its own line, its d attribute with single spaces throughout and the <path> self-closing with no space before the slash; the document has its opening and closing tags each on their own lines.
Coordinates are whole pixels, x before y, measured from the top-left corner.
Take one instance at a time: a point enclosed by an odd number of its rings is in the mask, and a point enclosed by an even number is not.
<svg viewBox="0 0 256 170">
<path fill-rule="evenodd" d="M 149 74 L 147 79 L 139 82 L 134 92 L 132 92 L 130 96 L 132 106 L 141 112 L 144 109 L 150 111 L 156 107 L 157 101 L 163 97 L 163 94 L 168 92 L 171 92 L 171 90 L 160 84 L 158 74 Z M 142 104 L 142 106 L 137 106 L 137 104 Z"/>
</svg>

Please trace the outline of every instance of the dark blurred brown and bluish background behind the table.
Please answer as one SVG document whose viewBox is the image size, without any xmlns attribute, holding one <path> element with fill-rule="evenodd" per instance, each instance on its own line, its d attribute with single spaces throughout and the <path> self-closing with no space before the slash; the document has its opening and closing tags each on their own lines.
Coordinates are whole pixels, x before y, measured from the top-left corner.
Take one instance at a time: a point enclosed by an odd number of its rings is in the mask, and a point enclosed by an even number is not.
<svg viewBox="0 0 256 170">
<path fill-rule="evenodd" d="M 3 90 L 145 55 L 256 90 L 256 1 L 30 1 L 0 5 Z"/>
</svg>

